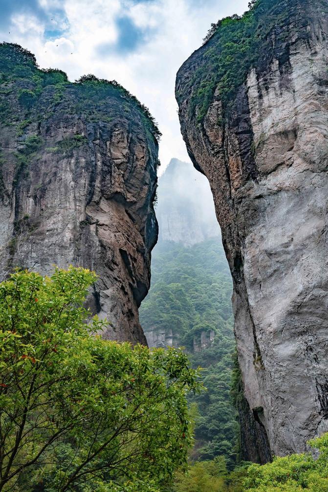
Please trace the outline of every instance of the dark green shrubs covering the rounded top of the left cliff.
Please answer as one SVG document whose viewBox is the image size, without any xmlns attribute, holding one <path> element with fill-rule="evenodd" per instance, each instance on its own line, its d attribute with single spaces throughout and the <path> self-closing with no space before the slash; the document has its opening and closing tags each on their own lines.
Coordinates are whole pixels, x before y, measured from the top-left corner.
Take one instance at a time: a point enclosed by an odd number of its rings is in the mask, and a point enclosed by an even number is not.
<svg viewBox="0 0 328 492">
<path fill-rule="evenodd" d="M 17 83 L 18 100 L 22 110 L 27 113 L 27 120 L 39 116 L 33 114 L 33 106 L 41 94 L 47 98 L 45 115 L 51 114 L 62 100 L 70 98 L 72 110 L 80 112 L 89 121 L 102 121 L 104 118 L 106 121 L 110 98 L 118 100 L 121 116 L 131 116 L 131 112 L 137 111 L 149 133 L 155 139 L 161 136 L 149 109 L 115 80 L 110 82 L 89 74 L 71 83 L 62 70 L 39 69 L 34 55 L 21 46 L 0 43 L 0 94 L 15 91 L 11 84 L 13 81 Z M 114 109 L 112 113 L 115 113 Z M 2 123 L 15 124 L 17 115 L 9 110 L 6 101 L 0 102 L 0 114 Z M 111 117 L 113 115 L 107 116 Z"/>
</svg>

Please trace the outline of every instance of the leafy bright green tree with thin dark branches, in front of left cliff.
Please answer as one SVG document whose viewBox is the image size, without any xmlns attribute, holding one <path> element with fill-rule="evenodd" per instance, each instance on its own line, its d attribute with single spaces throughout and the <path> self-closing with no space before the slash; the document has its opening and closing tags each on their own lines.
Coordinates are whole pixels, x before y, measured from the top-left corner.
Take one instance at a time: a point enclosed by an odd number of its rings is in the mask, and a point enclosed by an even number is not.
<svg viewBox="0 0 328 492">
<path fill-rule="evenodd" d="M 174 349 L 95 335 L 83 307 L 95 275 L 16 272 L 0 284 L 0 491 L 157 491 L 191 442 Z"/>
</svg>

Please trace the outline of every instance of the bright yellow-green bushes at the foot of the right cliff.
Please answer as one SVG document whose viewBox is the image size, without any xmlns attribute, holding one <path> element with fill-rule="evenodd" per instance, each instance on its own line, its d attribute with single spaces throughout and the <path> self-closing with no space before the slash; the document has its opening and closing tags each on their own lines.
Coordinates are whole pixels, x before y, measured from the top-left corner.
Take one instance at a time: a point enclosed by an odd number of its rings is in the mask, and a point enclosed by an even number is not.
<svg viewBox="0 0 328 492">
<path fill-rule="evenodd" d="M 241 463 L 228 472 L 222 458 L 198 461 L 177 473 L 174 492 L 327 492 L 328 434 L 309 441 L 311 453 L 275 457 L 265 465 Z"/>
</svg>

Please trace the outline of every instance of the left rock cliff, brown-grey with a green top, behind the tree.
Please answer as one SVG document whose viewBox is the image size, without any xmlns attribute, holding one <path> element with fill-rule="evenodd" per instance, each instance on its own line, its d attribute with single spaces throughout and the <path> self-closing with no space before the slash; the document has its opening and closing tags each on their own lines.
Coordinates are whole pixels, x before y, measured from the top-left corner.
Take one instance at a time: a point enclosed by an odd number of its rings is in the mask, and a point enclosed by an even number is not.
<svg viewBox="0 0 328 492">
<path fill-rule="evenodd" d="M 115 83 L 72 84 L 0 45 L 0 278 L 13 267 L 94 270 L 89 306 L 104 337 L 146 342 L 158 130 Z"/>
</svg>

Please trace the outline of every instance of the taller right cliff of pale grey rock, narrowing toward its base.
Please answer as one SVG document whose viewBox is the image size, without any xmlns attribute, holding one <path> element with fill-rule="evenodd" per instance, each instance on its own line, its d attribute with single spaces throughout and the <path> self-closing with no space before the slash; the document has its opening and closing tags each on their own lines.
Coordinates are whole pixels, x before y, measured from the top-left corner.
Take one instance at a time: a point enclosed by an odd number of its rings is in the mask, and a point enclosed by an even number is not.
<svg viewBox="0 0 328 492">
<path fill-rule="evenodd" d="M 259 0 L 177 77 L 234 279 L 242 447 L 258 461 L 328 431 L 327 12 L 327 0 Z"/>
</svg>

